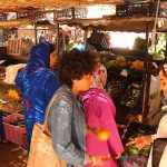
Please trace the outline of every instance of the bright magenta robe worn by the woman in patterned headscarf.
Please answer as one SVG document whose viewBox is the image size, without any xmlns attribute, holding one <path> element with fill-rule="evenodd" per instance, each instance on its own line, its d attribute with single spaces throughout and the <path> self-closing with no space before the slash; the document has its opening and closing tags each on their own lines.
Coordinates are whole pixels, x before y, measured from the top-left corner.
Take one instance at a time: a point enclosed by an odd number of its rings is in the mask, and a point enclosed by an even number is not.
<svg viewBox="0 0 167 167">
<path fill-rule="evenodd" d="M 86 149 L 88 155 L 110 154 L 110 160 L 102 167 L 118 167 L 118 160 L 115 159 L 115 155 L 117 153 L 121 154 L 124 147 L 115 121 L 116 108 L 112 100 L 105 90 L 98 88 L 90 88 L 87 92 L 82 92 L 81 96 L 87 126 L 106 128 L 110 132 L 107 141 L 97 139 L 94 134 L 87 134 Z"/>
</svg>

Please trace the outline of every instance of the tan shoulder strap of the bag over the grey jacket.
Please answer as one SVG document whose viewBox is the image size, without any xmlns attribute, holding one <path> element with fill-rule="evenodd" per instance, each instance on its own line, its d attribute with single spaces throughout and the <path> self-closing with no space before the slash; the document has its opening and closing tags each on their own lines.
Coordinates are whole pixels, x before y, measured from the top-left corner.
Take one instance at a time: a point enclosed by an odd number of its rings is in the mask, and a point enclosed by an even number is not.
<svg viewBox="0 0 167 167">
<path fill-rule="evenodd" d="M 58 98 L 59 96 L 62 96 L 62 95 L 65 95 L 66 97 L 70 98 L 70 96 L 67 92 L 60 91 L 60 92 L 53 95 L 53 97 L 51 98 L 51 100 L 50 100 L 50 102 L 49 102 L 49 105 L 47 107 L 46 118 L 45 118 L 45 122 L 43 122 L 43 126 L 42 126 L 42 131 L 47 132 L 49 136 L 51 136 L 51 132 L 48 129 L 47 119 L 48 119 L 48 116 L 49 116 L 49 112 L 50 112 L 50 107 L 51 107 L 52 102 L 55 101 L 55 99 Z"/>
</svg>

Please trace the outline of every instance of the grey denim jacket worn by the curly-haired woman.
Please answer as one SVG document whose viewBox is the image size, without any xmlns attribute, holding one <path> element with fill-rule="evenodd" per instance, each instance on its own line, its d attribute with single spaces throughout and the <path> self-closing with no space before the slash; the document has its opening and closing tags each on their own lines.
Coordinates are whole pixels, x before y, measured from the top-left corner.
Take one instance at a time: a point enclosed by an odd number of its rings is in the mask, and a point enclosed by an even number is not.
<svg viewBox="0 0 167 167">
<path fill-rule="evenodd" d="M 85 114 L 68 86 L 61 86 L 55 95 L 58 92 L 66 92 L 67 96 L 57 97 L 50 106 L 47 126 L 51 132 L 52 147 L 68 163 L 68 167 L 84 166 Z"/>
</svg>

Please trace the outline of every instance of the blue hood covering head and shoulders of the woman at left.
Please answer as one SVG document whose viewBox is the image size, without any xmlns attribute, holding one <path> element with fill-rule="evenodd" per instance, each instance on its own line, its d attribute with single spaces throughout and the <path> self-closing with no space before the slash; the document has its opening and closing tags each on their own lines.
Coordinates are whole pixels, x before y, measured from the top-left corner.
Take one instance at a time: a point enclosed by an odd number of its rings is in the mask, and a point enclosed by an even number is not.
<svg viewBox="0 0 167 167">
<path fill-rule="evenodd" d="M 37 46 L 33 46 L 30 50 L 26 68 L 19 72 L 16 78 L 16 84 L 24 96 L 29 96 L 32 88 L 43 88 L 42 85 L 46 82 L 47 78 L 50 75 L 53 76 L 53 71 L 49 69 L 49 63 L 50 43 L 40 42 Z"/>
</svg>

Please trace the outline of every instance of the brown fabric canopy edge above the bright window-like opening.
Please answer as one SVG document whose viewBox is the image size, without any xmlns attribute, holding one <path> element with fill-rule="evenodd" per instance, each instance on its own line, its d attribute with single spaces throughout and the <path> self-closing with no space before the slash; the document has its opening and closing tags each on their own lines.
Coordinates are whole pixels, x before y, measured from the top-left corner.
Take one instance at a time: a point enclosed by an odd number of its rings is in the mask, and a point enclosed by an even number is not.
<svg viewBox="0 0 167 167">
<path fill-rule="evenodd" d="M 57 20 L 60 24 L 80 26 L 82 28 L 96 28 L 104 31 L 135 31 L 145 32 L 148 26 L 149 31 L 153 30 L 155 18 L 126 18 L 126 19 L 75 19 L 75 20 Z"/>
</svg>

